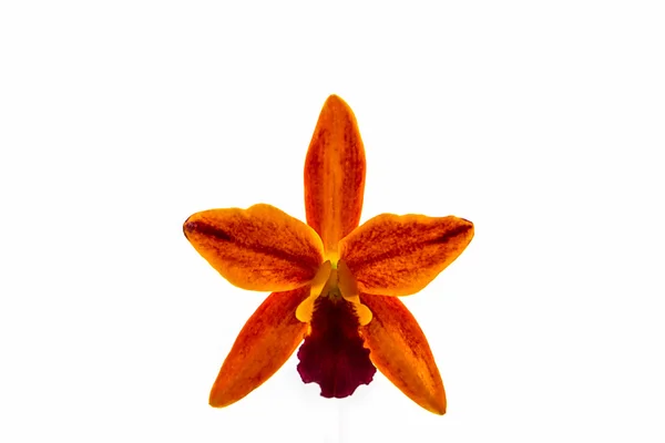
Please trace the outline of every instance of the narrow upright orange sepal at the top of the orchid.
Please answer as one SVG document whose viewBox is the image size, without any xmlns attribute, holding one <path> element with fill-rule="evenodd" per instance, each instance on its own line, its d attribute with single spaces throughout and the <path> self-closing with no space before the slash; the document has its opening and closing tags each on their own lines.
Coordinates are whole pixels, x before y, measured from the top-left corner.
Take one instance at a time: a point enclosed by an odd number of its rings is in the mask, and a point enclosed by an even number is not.
<svg viewBox="0 0 665 443">
<path fill-rule="evenodd" d="M 365 192 L 365 148 L 348 104 L 330 95 L 314 130 L 305 161 L 307 224 L 327 253 L 360 222 Z"/>
</svg>

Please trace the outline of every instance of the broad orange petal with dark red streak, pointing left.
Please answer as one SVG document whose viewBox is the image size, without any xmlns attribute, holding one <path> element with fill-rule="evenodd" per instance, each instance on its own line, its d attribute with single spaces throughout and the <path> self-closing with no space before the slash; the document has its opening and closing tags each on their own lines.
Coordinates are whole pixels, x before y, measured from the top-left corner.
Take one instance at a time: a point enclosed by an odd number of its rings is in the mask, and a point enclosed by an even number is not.
<svg viewBox="0 0 665 443">
<path fill-rule="evenodd" d="M 184 231 L 213 268 L 243 289 L 298 288 L 314 278 L 323 261 L 314 229 L 270 205 L 196 213 Z"/>
</svg>

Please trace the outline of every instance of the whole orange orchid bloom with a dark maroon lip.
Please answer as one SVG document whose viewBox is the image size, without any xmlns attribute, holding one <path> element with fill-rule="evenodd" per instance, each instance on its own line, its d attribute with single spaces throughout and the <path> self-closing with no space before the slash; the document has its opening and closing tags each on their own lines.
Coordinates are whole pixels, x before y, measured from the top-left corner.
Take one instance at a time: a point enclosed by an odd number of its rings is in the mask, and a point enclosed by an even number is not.
<svg viewBox="0 0 665 443">
<path fill-rule="evenodd" d="M 305 161 L 307 224 L 276 207 L 192 215 L 192 246 L 232 285 L 270 291 L 247 320 L 209 403 L 229 405 L 298 351 L 305 383 L 345 398 L 376 369 L 422 408 L 446 412 L 427 339 L 397 298 L 423 289 L 473 237 L 463 218 L 382 214 L 358 227 L 365 148 L 350 107 L 328 97 Z"/>
</svg>

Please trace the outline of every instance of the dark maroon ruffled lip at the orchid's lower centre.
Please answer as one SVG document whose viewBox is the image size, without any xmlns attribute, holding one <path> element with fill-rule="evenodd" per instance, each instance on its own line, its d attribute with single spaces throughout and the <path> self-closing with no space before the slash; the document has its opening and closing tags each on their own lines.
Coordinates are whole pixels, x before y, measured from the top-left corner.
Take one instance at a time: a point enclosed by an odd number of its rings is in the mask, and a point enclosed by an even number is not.
<svg viewBox="0 0 665 443">
<path fill-rule="evenodd" d="M 298 351 L 298 372 L 305 383 L 318 383 L 321 396 L 342 399 L 371 382 L 377 370 L 364 347 L 352 303 L 319 297 L 310 326 L 311 333 Z"/>
</svg>

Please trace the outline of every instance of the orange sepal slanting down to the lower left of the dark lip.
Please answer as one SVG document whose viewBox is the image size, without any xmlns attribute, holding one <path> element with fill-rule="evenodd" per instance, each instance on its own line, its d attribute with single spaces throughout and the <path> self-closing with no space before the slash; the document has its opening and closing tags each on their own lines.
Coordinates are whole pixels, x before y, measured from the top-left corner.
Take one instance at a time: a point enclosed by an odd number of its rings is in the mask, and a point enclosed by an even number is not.
<svg viewBox="0 0 665 443">
<path fill-rule="evenodd" d="M 309 296 L 309 286 L 273 292 L 247 320 L 211 391 L 209 403 L 224 408 L 268 380 L 294 353 L 307 331 L 296 308 Z"/>
</svg>

